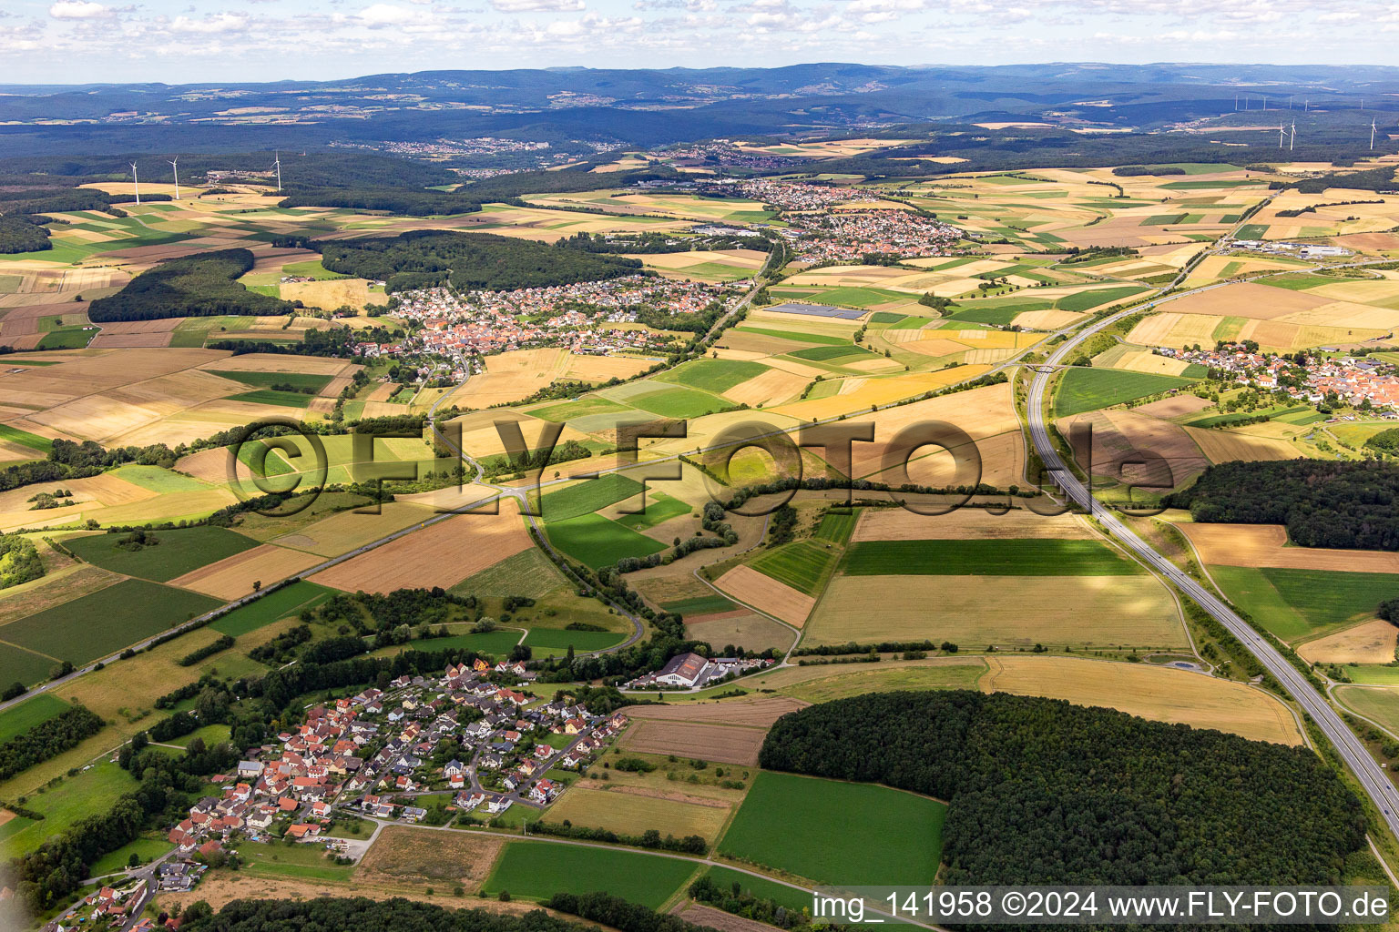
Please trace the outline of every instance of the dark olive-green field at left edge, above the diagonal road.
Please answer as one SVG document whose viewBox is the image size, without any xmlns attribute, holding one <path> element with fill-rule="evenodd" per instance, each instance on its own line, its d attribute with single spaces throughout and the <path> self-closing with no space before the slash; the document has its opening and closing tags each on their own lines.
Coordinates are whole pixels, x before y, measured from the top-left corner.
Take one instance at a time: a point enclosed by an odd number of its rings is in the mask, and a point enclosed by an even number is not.
<svg viewBox="0 0 1399 932">
<path fill-rule="evenodd" d="M 218 599 L 197 592 L 145 580 L 122 580 L 116 585 L 10 622 L 4 627 L 4 636 L 7 641 L 27 650 L 84 664 L 220 605 Z"/>
</svg>

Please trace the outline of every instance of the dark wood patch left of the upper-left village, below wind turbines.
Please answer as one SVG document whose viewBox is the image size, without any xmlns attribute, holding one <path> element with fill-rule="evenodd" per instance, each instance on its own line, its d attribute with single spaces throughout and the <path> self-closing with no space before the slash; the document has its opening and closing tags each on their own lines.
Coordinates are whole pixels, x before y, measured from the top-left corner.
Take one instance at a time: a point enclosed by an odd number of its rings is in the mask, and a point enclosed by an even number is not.
<svg viewBox="0 0 1399 932">
<path fill-rule="evenodd" d="M 88 306 L 92 323 L 211 317 L 215 314 L 285 314 L 295 305 L 248 291 L 238 278 L 253 267 L 246 249 L 171 259 L 143 272 L 111 298 Z"/>
</svg>

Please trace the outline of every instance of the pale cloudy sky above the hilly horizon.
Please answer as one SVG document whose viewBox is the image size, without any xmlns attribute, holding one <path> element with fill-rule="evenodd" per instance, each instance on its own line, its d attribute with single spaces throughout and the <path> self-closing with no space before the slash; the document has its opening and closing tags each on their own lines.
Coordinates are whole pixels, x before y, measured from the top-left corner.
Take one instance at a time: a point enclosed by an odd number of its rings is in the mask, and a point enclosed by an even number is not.
<svg viewBox="0 0 1399 932">
<path fill-rule="evenodd" d="M 1399 66 L 1395 0 L 7 0 L 0 82 L 803 61 Z"/>
</svg>

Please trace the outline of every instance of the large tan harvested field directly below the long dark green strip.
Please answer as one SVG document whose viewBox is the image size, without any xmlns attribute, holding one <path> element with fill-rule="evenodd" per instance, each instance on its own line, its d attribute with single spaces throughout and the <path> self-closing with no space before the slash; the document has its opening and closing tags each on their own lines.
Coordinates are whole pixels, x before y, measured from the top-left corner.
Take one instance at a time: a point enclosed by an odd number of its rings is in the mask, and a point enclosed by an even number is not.
<svg viewBox="0 0 1399 932">
<path fill-rule="evenodd" d="M 1175 601 L 1149 576 L 842 576 L 803 643 L 923 639 L 978 650 L 1189 644 Z"/>
</svg>

